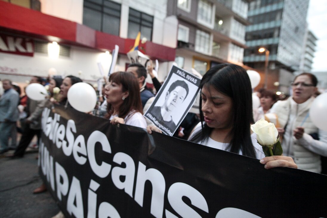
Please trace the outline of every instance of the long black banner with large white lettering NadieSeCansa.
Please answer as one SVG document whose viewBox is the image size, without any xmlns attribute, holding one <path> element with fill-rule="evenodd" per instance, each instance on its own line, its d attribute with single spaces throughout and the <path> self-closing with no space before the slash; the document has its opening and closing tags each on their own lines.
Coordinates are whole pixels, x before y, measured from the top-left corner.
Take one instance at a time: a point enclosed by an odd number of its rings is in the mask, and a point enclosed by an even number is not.
<svg viewBox="0 0 327 218">
<path fill-rule="evenodd" d="M 39 171 L 66 217 L 327 217 L 327 176 L 45 108 Z"/>
</svg>

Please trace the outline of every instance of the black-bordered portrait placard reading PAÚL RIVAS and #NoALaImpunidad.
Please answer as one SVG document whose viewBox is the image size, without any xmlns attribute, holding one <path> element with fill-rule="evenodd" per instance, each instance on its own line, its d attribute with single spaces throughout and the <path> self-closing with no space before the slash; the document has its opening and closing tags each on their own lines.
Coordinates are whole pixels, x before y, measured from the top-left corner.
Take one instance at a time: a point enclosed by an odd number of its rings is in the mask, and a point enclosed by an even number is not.
<svg viewBox="0 0 327 218">
<path fill-rule="evenodd" d="M 200 81 L 197 76 L 173 65 L 144 116 L 165 134 L 172 136 L 192 107 Z"/>
</svg>

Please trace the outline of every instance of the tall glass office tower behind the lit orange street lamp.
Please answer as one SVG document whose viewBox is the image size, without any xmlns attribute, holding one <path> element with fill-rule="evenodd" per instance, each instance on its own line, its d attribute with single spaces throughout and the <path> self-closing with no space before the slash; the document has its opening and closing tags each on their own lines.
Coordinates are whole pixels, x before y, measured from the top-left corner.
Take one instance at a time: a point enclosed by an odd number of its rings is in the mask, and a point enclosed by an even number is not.
<svg viewBox="0 0 327 218">
<path fill-rule="evenodd" d="M 309 0 L 255 0 L 250 2 L 246 28 L 244 64 L 263 71 L 265 54 L 258 49 L 269 50 L 268 89 L 288 93 L 293 72 L 299 71 L 302 57 L 306 17 Z"/>
</svg>

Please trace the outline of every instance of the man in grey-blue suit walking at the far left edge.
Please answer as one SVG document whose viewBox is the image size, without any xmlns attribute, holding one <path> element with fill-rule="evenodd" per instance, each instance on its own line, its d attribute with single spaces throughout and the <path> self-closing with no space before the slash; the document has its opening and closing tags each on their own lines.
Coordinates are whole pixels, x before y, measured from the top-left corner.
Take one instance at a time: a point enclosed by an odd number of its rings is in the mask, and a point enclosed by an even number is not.
<svg viewBox="0 0 327 218">
<path fill-rule="evenodd" d="M 11 129 L 16 128 L 18 120 L 19 94 L 12 88 L 11 81 L 2 81 L 4 93 L 0 98 L 0 154 L 8 151 Z"/>
</svg>

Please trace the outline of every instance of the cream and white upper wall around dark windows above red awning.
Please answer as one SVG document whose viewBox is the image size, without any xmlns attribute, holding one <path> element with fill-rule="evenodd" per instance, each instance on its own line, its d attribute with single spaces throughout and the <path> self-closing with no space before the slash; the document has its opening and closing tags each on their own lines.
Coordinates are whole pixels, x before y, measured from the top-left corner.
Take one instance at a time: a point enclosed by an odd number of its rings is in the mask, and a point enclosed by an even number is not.
<svg viewBox="0 0 327 218">
<path fill-rule="evenodd" d="M 40 0 L 41 12 L 70 20 L 79 24 L 83 23 L 83 0 Z M 129 8 L 144 12 L 154 17 L 152 42 L 163 44 L 169 47 L 176 47 L 178 24 L 176 21 L 166 19 L 167 0 L 112 0 L 121 4 L 120 33 L 119 36 L 127 38 Z M 164 34 L 164 29 L 169 26 L 169 34 Z M 176 34 L 174 34 L 176 32 Z M 176 35 L 176 37 L 175 37 Z M 165 39 L 169 36 L 169 41 Z M 175 41 L 171 43 L 171 41 Z"/>
</svg>

